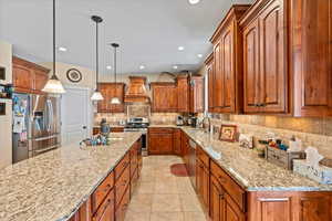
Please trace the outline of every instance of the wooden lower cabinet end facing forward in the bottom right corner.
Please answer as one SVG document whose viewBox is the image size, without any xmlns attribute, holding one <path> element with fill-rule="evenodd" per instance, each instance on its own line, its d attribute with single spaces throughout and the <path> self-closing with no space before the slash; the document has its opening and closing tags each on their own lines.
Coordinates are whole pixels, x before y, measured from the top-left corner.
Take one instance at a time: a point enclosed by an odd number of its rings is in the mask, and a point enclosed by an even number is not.
<svg viewBox="0 0 332 221">
<path fill-rule="evenodd" d="M 248 221 L 332 220 L 331 192 L 249 192 Z"/>
</svg>

